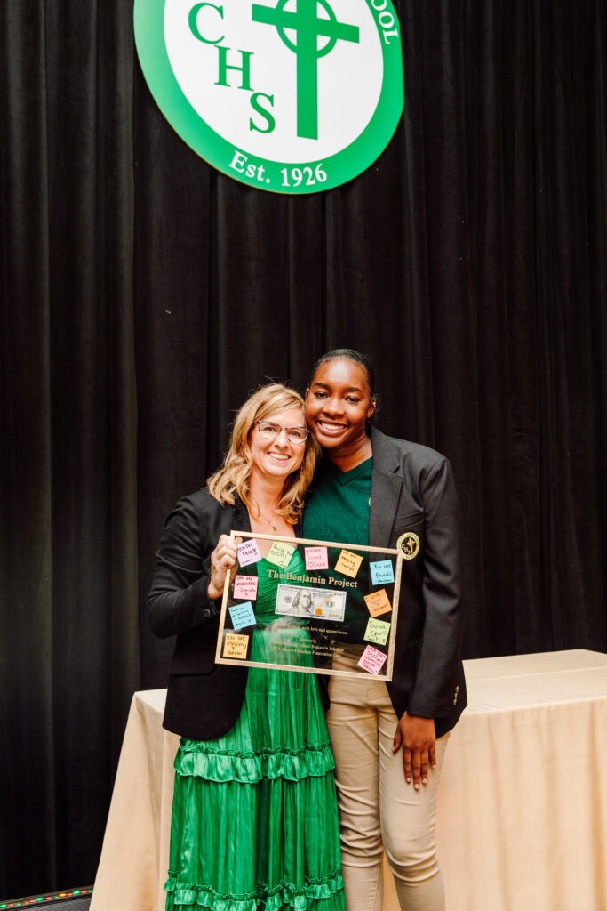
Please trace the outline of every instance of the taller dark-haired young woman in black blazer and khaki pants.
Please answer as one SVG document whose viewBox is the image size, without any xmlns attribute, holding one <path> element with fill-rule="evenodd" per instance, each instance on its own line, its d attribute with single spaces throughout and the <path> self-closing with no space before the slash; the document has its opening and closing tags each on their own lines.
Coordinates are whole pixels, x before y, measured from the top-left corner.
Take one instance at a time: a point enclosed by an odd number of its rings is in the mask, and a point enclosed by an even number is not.
<svg viewBox="0 0 607 911">
<path fill-rule="evenodd" d="M 369 425 L 373 373 L 358 352 L 320 358 L 306 404 L 323 457 L 304 537 L 402 548 L 404 557 L 392 681 L 329 681 L 347 906 L 379 911 L 385 849 L 402 911 L 441 911 L 436 797 L 449 732 L 466 705 L 450 464 Z"/>
</svg>

